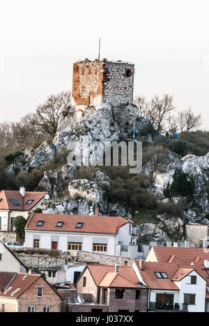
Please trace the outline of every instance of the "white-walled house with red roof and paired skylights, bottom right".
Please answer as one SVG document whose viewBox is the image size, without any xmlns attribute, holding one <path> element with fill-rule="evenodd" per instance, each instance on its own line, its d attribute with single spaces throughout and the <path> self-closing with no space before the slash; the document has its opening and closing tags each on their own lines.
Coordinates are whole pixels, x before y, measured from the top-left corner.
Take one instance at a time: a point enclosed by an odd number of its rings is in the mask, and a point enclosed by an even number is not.
<svg viewBox="0 0 209 326">
<path fill-rule="evenodd" d="M 135 264 L 139 279 L 149 288 L 149 310 L 205 311 L 206 279 L 194 267 L 168 262 L 136 261 Z"/>
</svg>

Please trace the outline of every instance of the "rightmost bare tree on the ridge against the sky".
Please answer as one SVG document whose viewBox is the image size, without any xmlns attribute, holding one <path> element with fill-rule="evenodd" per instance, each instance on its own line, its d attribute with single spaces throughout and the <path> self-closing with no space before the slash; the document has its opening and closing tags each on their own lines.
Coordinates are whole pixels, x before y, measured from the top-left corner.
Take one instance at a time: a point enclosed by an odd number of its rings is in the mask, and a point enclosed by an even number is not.
<svg viewBox="0 0 209 326">
<path fill-rule="evenodd" d="M 178 129 L 180 132 L 189 132 L 201 126 L 201 114 L 195 115 L 192 108 L 178 112 Z"/>
</svg>

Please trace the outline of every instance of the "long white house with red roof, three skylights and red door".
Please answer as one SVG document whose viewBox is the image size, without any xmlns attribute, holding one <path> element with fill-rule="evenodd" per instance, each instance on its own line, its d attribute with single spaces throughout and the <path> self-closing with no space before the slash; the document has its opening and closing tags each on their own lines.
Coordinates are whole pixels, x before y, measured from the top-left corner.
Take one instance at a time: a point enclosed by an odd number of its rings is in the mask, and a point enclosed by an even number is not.
<svg viewBox="0 0 209 326">
<path fill-rule="evenodd" d="M 33 213 L 25 227 L 25 247 L 90 251 L 111 256 L 137 257 L 132 222 L 122 217 L 95 215 L 52 215 Z"/>
</svg>

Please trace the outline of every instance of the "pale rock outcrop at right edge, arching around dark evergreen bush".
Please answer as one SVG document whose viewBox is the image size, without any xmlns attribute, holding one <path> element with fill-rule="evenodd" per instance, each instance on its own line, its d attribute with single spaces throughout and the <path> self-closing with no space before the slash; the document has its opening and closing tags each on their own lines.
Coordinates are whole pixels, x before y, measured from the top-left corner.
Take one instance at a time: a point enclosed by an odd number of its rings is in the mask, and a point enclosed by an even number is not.
<svg viewBox="0 0 209 326">
<path fill-rule="evenodd" d="M 152 178 L 152 189 L 158 198 L 164 199 L 164 189 L 168 184 L 173 183 L 175 171 L 183 171 L 194 178 L 194 199 L 192 199 L 191 205 L 199 208 L 203 215 L 208 214 L 206 185 L 209 180 L 209 154 L 204 157 L 187 155 L 179 159 L 176 154 L 170 152 L 160 164 L 157 164 L 157 159 L 158 157 L 153 157 L 152 162 L 148 162 L 144 166 L 144 173 Z"/>
</svg>

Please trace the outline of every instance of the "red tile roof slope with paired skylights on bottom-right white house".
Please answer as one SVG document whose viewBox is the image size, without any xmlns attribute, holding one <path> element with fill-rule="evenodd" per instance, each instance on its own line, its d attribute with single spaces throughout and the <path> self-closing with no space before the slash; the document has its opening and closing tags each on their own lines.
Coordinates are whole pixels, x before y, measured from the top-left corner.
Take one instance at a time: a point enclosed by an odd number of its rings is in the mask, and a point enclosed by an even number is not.
<svg viewBox="0 0 209 326">
<path fill-rule="evenodd" d="M 142 262 L 140 268 L 139 261 L 136 261 L 141 273 L 141 277 L 149 288 L 153 290 L 179 290 L 178 286 L 172 281 L 173 275 L 178 270 L 178 265 L 174 263 L 146 263 Z M 164 272 L 168 279 L 157 279 L 155 272 Z"/>
</svg>

